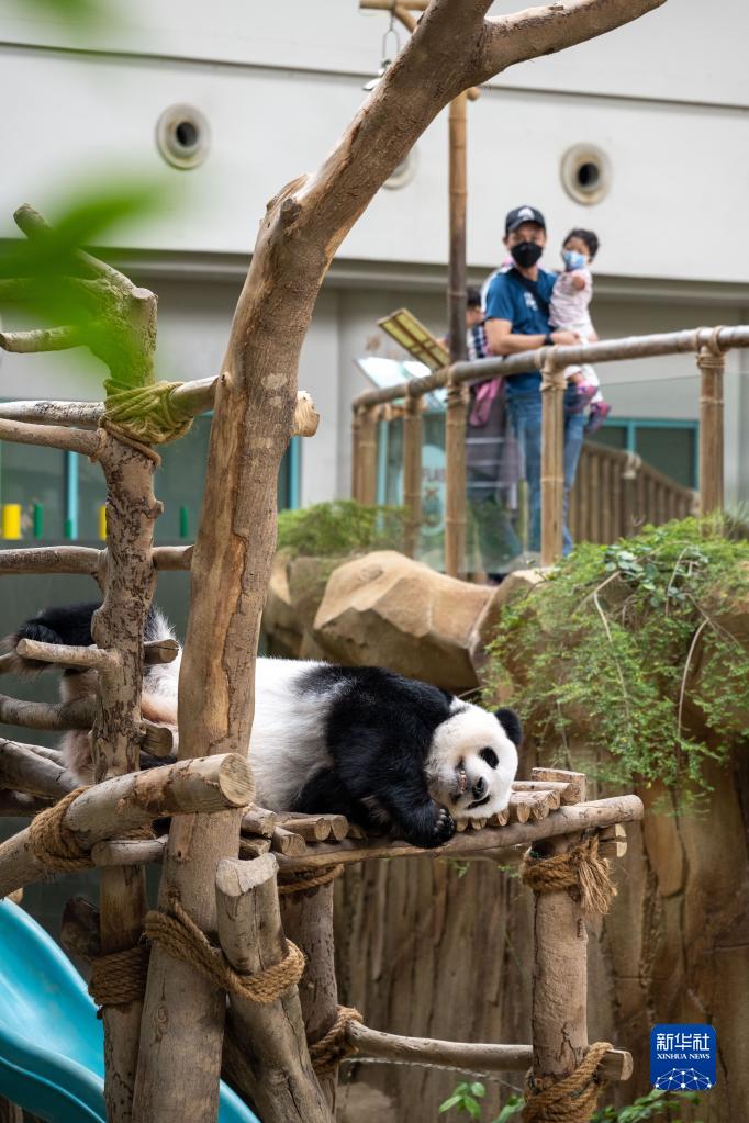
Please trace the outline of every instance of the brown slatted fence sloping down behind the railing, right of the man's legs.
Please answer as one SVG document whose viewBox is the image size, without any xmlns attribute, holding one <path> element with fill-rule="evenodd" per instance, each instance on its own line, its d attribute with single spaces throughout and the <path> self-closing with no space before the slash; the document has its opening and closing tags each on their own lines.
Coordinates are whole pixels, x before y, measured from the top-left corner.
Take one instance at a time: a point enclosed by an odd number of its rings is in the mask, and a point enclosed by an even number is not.
<svg viewBox="0 0 749 1123">
<path fill-rule="evenodd" d="M 657 472 L 634 453 L 585 444 L 569 496 L 575 541 L 615 542 L 646 523 L 660 526 L 698 510 L 698 495 Z"/>
</svg>

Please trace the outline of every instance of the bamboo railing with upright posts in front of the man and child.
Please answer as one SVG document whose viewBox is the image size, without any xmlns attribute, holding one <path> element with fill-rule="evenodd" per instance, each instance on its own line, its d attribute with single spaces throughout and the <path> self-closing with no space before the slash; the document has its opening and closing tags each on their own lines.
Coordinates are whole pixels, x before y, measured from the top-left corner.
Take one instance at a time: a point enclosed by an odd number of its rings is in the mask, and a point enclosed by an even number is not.
<svg viewBox="0 0 749 1123">
<path fill-rule="evenodd" d="M 749 347 L 749 326 L 732 328 L 697 328 L 655 336 L 631 336 L 628 339 L 610 339 L 597 344 L 576 347 L 541 347 L 535 351 L 512 355 L 508 358 L 485 358 L 471 363 L 454 363 L 435 371 L 423 378 L 414 378 L 386 390 L 369 390 L 359 394 L 353 403 L 354 428 L 351 450 L 351 493 L 364 503 L 374 503 L 377 481 L 377 420 L 392 416 L 393 402 L 405 402 L 403 412 L 403 496 L 409 510 L 409 551 L 413 553 L 417 528 L 421 521 L 421 402 L 428 392 L 440 386 L 447 387 L 447 417 L 445 436 L 446 459 L 446 524 L 445 568 L 448 574 L 459 575 L 465 569 L 466 541 L 466 468 L 465 426 L 467 389 L 466 383 L 477 378 L 497 375 L 521 374 L 540 371 L 542 401 L 542 454 L 541 454 L 541 564 L 550 565 L 561 555 L 561 513 L 564 501 L 564 369 L 584 363 L 611 363 L 618 359 L 650 358 L 659 355 L 678 355 L 692 351 L 701 376 L 700 391 L 700 500 L 703 513 L 723 505 L 723 372 L 725 351 L 736 347 Z M 384 409 L 383 409 L 384 408 Z M 586 453 L 586 458 L 595 454 Z M 584 468 L 592 473 L 592 486 L 601 487 L 606 471 L 611 475 L 611 460 L 599 455 L 599 463 Z M 609 467 L 606 468 L 606 464 Z M 675 511 L 684 511 L 684 496 L 677 502 L 672 494 L 673 484 L 652 468 L 636 472 L 636 486 L 624 487 L 620 501 L 627 505 L 633 497 L 634 505 L 624 518 L 624 528 L 631 529 L 631 519 L 648 517 L 650 510 L 667 511 L 672 504 Z M 669 487 L 667 487 L 667 483 Z M 632 496 L 633 492 L 633 496 Z M 578 490 L 579 495 L 579 490 Z M 682 504 L 679 508 L 679 503 Z M 688 505 L 688 504 L 687 504 Z M 686 513 L 686 511 L 685 511 Z M 584 519 L 586 526 L 593 518 L 588 510 L 581 513 L 579 500 L 573 518 Z M 604 522 L 609 520 L 608 522 Z M 601 514 L 601 536 L 611 530 L 614 533 L 615 515 Z M 664 521 L 664 520 L 659 520 Z M 575 526 L 573 521 L 573 527 Z M 582 536 L 590 537 L 587 532 Z M 605 540 L 605 539 L 604 539 Z"/>
</svg>

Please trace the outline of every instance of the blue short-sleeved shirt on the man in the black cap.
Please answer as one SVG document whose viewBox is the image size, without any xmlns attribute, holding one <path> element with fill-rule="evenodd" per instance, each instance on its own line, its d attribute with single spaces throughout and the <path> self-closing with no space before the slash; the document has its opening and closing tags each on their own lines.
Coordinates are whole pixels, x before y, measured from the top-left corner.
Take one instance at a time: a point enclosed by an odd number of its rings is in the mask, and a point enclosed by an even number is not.
<svg viewBox="0 0 749 1123">
<path fill-rule="evenodd" d="M 486 289 L 485 317 L 487 320 L 509 320 L 517 336 L 545 336 L 549 326 L 549 301 L 557 280 L 556 273 L 538 271 L 538 280 L 529 281 L 515 268 L 495 273 Z M 528 390 L 538 390 L 541 372 L 513 374 L 506 382 L 508 398 Z"/>
</svg>

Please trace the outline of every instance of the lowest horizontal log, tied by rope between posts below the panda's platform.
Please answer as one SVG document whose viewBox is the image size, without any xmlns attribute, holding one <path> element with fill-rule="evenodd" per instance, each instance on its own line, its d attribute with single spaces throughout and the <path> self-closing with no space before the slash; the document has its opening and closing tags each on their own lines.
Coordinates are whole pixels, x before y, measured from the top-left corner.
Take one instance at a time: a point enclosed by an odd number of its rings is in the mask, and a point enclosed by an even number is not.
<svg viewBox="0 0 749 1123">
<path fill-rule="evenodd" d="M 371 1030 L 360 1022 L 348 1023 L 346 1039 L 362 1057 L 401 1065 L 453 1068 L 475 1076 L 524 1072 L 533 1059 L 532 1046 L 473 1044 L 433 1038 L 408 1038 Z M 632 1075 L 631 1053 L 623 1049 L 609 1050 L 599 1066 L 599 1072 L 605 1080 L 629 1080 Z"/>
</svg>

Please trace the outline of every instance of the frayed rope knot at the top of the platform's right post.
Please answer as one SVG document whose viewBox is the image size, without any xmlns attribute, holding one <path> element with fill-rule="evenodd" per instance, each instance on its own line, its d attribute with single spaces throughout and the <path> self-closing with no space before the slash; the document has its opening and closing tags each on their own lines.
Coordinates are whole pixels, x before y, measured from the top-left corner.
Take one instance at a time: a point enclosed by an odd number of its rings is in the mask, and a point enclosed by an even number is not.
<svg viewBox="0 0 749 1123">
<path fill-rule="evenodd" d="M 560 893 L 572 889 L 585 913 L 605 915 L 616 888 L 609 873 L 609 859 L 599 855 L 599 836 L 584 839 L 566 853 L 542 858 L 528 850 L 520 876 L 533 893 Z"/>
</svg>

